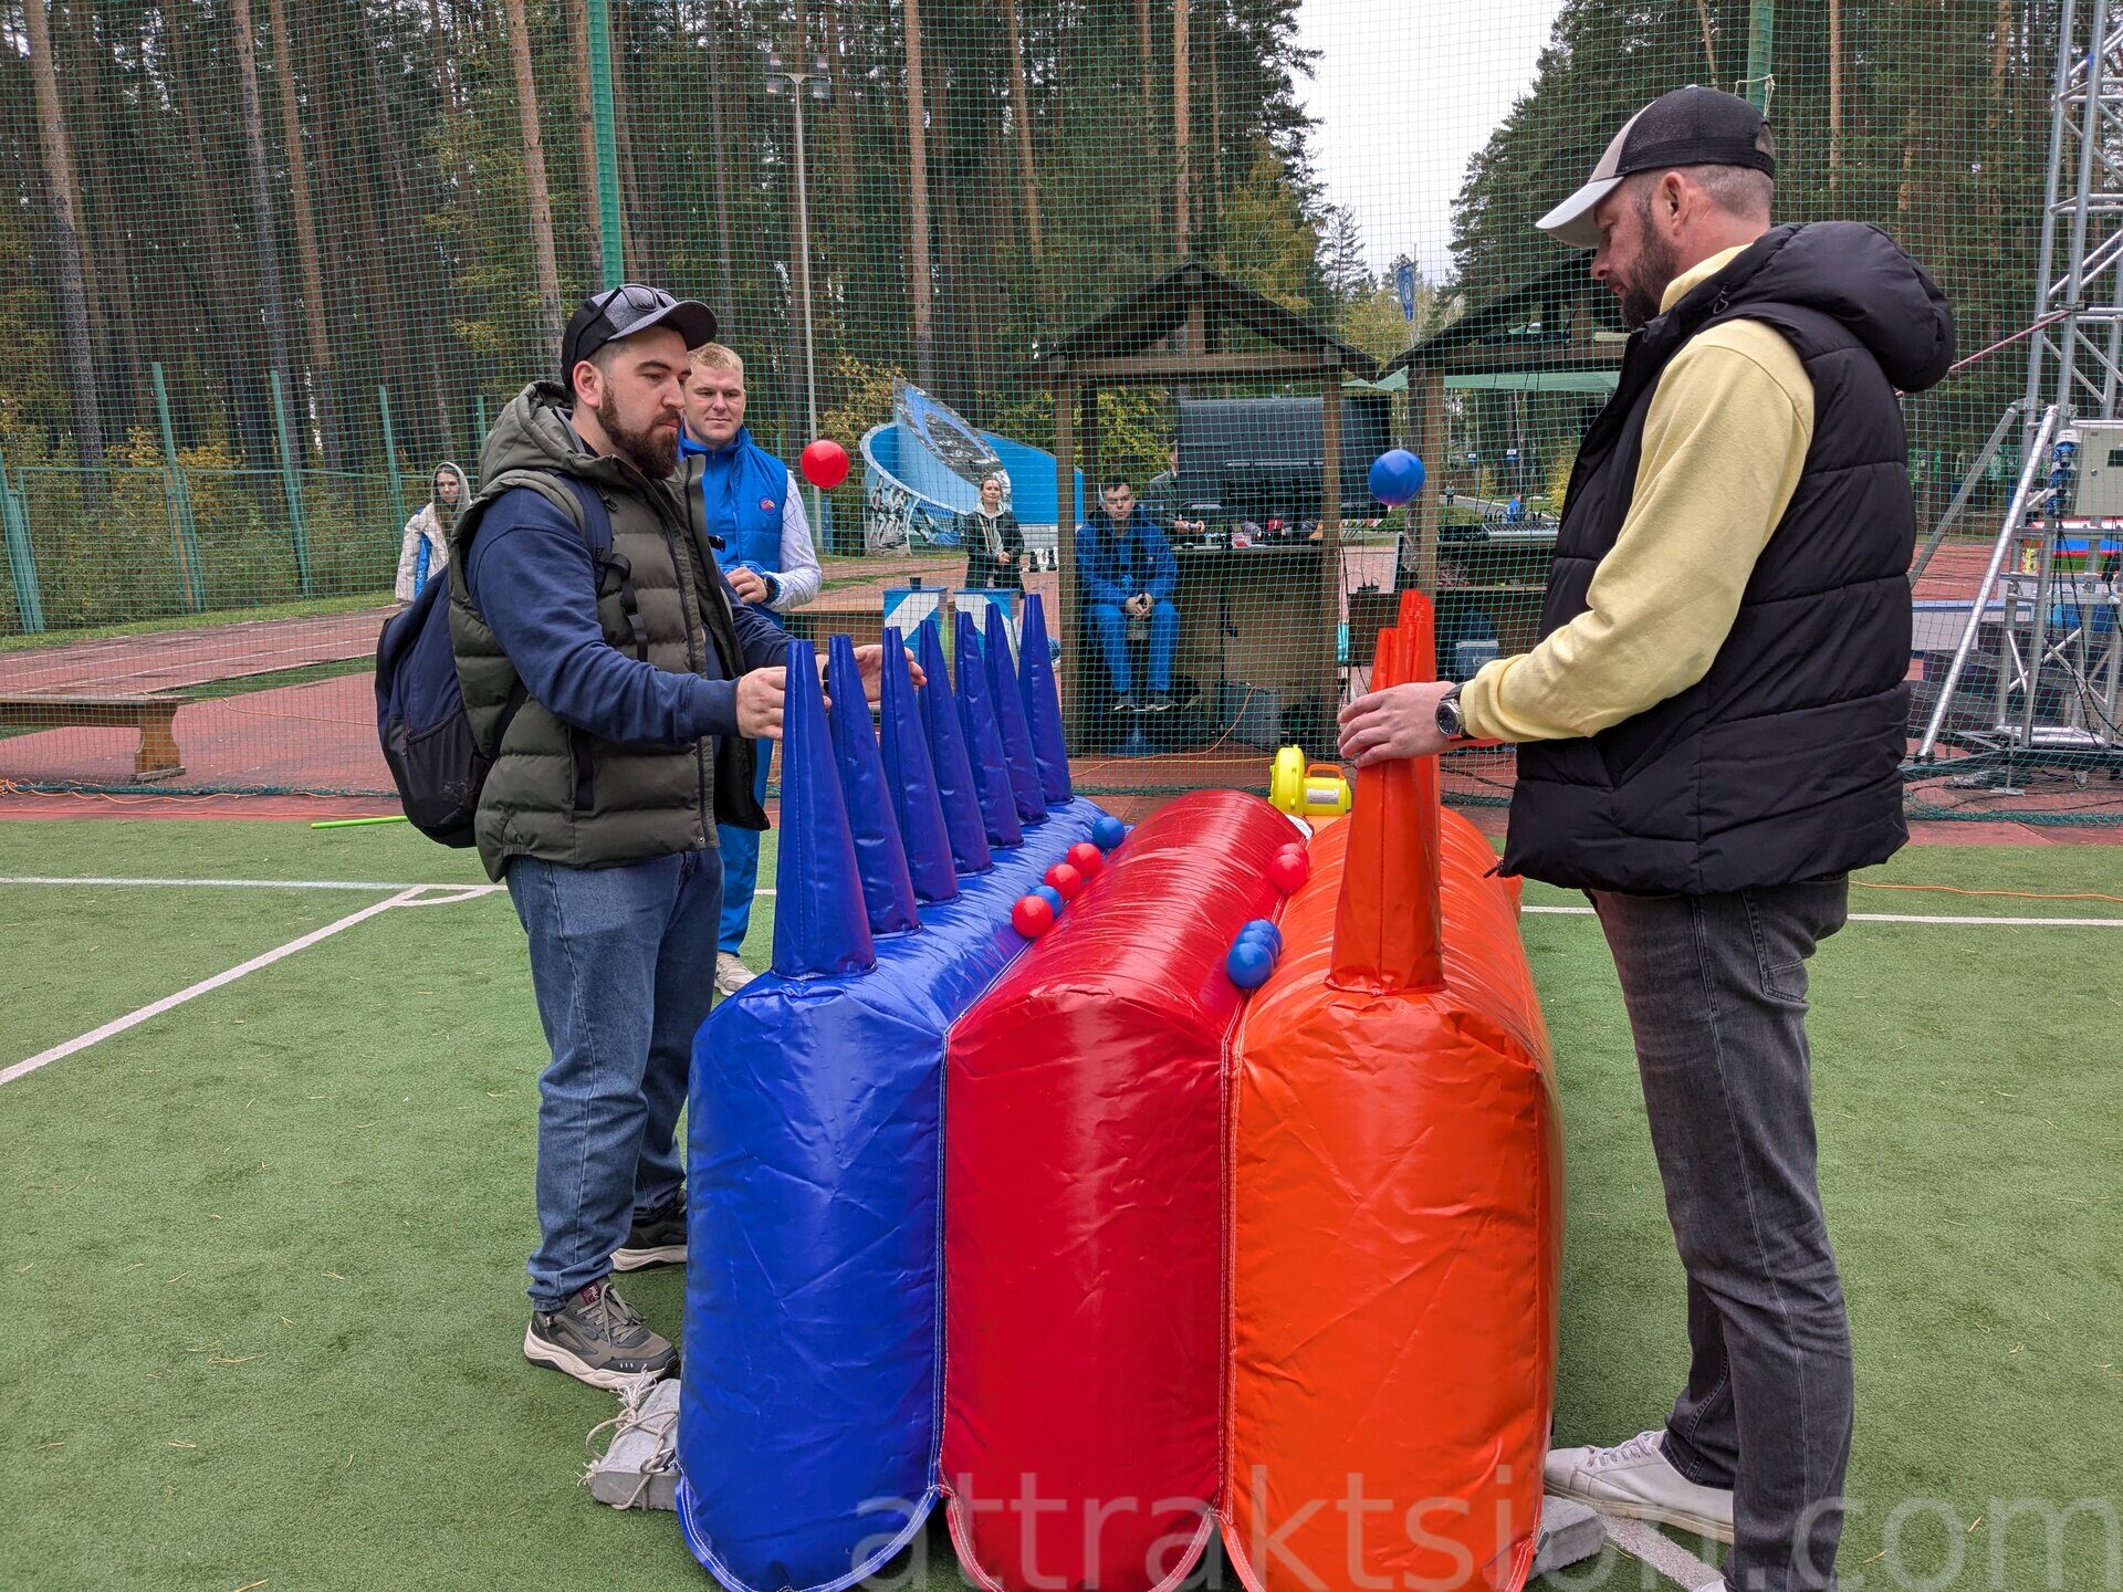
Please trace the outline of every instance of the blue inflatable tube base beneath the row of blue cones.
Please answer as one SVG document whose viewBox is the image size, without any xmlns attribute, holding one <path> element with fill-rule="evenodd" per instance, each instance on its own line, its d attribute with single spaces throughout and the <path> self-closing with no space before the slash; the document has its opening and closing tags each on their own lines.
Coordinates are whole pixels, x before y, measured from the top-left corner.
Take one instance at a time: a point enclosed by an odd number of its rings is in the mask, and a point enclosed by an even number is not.
<svg viewBox="0 0 2123 1592">
<path fill-rule="evenodd" d="M 762 974 L 701 1025 L 677 1511 L 730 1592 L 841 1592 L 936 1503 L 945 1034 L 1100 817 L 1051 807 L 868 972 Z"/>
</svg>

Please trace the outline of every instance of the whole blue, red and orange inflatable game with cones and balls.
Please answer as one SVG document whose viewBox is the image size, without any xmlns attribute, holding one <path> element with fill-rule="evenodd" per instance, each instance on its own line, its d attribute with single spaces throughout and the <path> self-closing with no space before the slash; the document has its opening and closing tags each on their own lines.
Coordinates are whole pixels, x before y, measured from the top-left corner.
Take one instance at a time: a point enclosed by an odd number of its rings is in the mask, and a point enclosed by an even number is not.
<svg viewBox="0 0 2123 1592">
<path fill-rule="evenodd" d="M 1563 1167 L 1516 881 L 1435 760 L 1316 832 L 1072 796 L 1038 599 L 790 669 L 775 966 L 694 1046 L 677 1509 L 839 1592 L 1516 1590 Z M 1429 609 L 1376 683 L 1431 660 Z"/>
</svg>

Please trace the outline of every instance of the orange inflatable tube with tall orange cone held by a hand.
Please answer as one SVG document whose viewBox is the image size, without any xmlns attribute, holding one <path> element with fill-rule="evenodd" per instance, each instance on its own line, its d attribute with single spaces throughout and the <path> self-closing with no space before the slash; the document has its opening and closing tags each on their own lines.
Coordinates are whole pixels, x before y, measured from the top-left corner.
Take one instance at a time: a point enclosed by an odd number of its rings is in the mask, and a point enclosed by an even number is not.
<svg viewBox="0 0 2123 1592">
<path fill-rule="evenodd" d="M 1429 677 L 1429 607 L 1380 683 Z M 1563 1150 L 1514 881 L 1367 768 L 1312 841 L 1229 1102 L 1223 1524 L 1253 1592 L 1516 1592 L 1556 1361 Z"/>
</svg>

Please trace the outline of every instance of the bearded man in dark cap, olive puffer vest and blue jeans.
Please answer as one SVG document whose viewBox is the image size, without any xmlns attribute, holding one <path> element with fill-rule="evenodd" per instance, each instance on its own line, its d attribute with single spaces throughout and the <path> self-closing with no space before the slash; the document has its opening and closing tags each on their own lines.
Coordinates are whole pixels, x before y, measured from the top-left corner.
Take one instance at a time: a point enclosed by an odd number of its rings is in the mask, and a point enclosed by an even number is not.
<svg viewBox="0 0 2123 1592">
<path fill-rule="evenodd" d="M 675 1365 L 609 1274 L 686 1254 L 675 1125 L 713 1000 L 715 826 L 766 828 L 752 743 L 781 734 L 788 637 L 730 599 L 673 473 L 688 350 L 713 335 L 707 306 L 641 282 L 586 299 L 450 539 L 456 675 L 493 760 L 480 860 L 552 1046 L 524 1356 L 601 1388 Z M 877 647 L 858 658 L 875 692 Z"/>
</svg>

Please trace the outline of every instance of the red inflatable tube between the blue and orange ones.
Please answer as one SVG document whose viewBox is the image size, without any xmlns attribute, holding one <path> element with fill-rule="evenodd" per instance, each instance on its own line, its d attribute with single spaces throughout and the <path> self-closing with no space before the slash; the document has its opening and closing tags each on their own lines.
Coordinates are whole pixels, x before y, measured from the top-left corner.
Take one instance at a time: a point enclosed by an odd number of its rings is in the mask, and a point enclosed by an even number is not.
<svg viewBox="0 0 2123 1592">
<path fill-rule="evenodd" d="M 1257 796 L 1174 800 L 951 1029 L 943 1482 L 987 1588 L 1168 1588 L 1208 1539 L 1225 955 L 1291 838 Z"/>
</svg>

